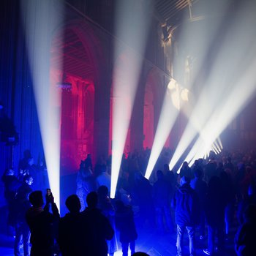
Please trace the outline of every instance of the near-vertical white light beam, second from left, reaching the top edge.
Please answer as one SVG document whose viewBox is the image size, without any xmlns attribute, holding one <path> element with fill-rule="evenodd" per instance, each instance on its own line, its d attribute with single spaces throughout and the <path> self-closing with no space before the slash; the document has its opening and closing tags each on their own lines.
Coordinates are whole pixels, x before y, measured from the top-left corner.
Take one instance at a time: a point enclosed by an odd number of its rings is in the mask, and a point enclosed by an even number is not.
<svg viewBox="0 0 256 256">
<path fill-rule="evenodd" d="M 138 86 L 150 21 L 151 1 L 118 1 L 113 70 L 113 143 L 110 197 L 116 195 L 121 157 Z"/>
</svg>

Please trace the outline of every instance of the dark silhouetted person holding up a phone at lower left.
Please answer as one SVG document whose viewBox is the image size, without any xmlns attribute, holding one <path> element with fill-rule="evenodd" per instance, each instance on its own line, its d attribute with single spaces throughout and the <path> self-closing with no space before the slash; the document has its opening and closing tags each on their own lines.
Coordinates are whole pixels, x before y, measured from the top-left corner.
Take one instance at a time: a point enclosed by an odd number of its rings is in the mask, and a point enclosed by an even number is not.
<svg viewBox="0 0 256 256">
<path fill-rule="evenodd" d="M 53 196 L 47 197 L 45 208 L 42 208 L 42 191 L 31 192 L 29 201 L 32 207 L 26 212 L 26 222 L 31 232 L 31 256 L 53 256 L 53 226 L 59 220 L 59 210 Z M 49 212 L 50 205 L 53 214 Z"/>
</svg>

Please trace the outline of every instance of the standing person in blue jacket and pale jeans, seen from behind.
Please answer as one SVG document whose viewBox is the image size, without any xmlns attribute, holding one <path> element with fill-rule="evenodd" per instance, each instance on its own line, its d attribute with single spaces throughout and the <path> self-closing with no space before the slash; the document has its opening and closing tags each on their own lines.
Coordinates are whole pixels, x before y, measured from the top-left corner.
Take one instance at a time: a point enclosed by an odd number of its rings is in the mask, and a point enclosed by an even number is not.
<svg viewBox="0 0 256 256">
<path fill-rule="evenodd" d="M 184 230 L 187 230 L 189 236 L 189 254 L 195 255 L 195 226 L 199 222 L 199 200 L 194 189 L 190 187 L 189 178 L 183 176 L 180 181 L 180 187 L 173 196 L 172 206 L 175 208 L 175 219 L 177 225 L 177 255 L 182 253 L 182 240 Z"/>
</svg>

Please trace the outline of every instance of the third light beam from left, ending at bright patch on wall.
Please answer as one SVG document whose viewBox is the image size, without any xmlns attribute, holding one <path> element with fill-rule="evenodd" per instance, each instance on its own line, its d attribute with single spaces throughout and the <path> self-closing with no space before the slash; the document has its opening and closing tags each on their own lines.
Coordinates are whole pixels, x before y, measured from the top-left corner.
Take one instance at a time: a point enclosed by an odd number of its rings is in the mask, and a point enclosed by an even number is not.
<svg viewBox="0 0 256 256">
<path fill-rule="evenodd" d="M 149 178 L 151 176 L 154 165 L 156 164 L 159 154 L 161 153 L 162 148 L 165 145 L 165 141 L 170 134 L 170 130 L 173 128 L 173 124 L 176 121 L 176 118 L 178 116 L 178 110 L 180 110 L 181 107 L 180 105 L 181 103 L 179 99 L 178 83 L 176 83 L 175 80 L 171 79 L 165 91 L 165 98 L 159 116 L 157 131 L 154 137 L 154 143 L 148 160 L 148 166 L 146 168 L 146 178 Z"/>
</svg>

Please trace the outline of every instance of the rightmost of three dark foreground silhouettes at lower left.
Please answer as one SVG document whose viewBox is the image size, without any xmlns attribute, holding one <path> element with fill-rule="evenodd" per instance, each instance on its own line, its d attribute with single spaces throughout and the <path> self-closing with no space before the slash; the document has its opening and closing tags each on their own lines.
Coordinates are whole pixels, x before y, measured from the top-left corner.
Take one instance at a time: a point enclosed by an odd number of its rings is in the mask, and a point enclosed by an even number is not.
<svg viewBox="0 0 256 256">
<path fill-rule="evenodd" d="M 86 255 L 107 256 L 108 244 L 106 240 L 113 238 L 114 230 L 107 217 L 97 208 L 97 192 L 90 192 L 86 197 L 86 203 L 88 207 L 81 213 L 90 233 L 88 241 L 90 251 Z"/>
</svg>

